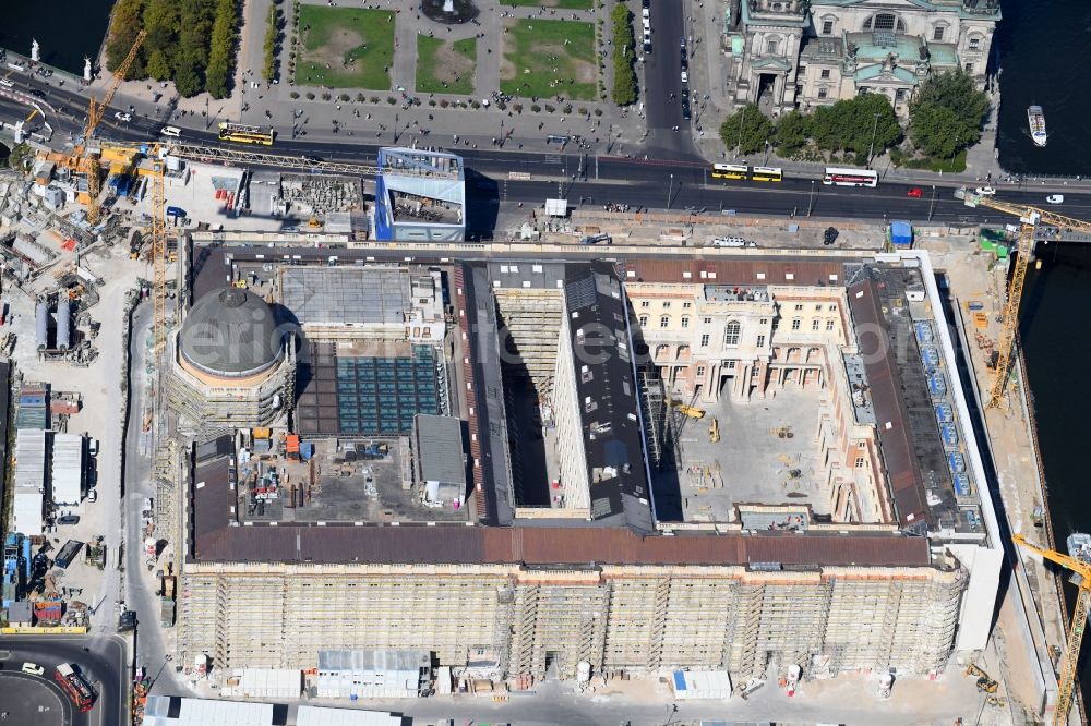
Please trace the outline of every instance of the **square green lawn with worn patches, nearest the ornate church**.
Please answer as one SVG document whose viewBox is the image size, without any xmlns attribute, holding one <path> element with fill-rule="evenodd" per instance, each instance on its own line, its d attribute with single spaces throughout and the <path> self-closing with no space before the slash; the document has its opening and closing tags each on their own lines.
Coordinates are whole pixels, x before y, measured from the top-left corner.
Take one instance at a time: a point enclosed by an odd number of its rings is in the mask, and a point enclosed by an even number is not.
<svg viewBox="0 0 1091 726">
<path fill-rule="evenodd" d="M 509 21 L 504 26 L 503 48 L 500 89 L 505 94 L 595 100 L 599 69 L 590 23 Z"/>
</svg>

